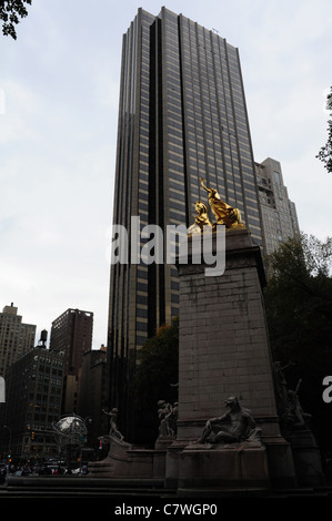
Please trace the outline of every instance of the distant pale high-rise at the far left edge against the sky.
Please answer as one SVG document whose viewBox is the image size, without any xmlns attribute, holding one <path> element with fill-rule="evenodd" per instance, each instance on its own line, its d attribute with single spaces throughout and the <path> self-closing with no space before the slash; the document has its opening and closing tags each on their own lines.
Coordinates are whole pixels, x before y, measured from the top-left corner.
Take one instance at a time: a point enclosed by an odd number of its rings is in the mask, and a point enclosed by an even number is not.
<svg viewBox="0 0 332 521">
<path fill-rule="evenodd" d="M 0 313 L 0 376 L 34 346 L 36 326 L 23 324 L 18 308 L 11 304 Z"/>
</svg>

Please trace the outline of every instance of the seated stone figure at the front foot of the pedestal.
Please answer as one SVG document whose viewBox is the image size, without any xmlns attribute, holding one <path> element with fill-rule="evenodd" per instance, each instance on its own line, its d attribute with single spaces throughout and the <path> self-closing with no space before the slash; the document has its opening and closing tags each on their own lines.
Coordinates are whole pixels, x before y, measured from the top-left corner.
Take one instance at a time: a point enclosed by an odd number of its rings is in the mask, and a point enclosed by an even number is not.
<svg viewBox="0 0 332 521">
<path fill-rule="evenodd" d="M 207 421 L 202 437 L 198 442 L 235 443 L 244 440 L 260 440 L 261 431 L 256 428 L 250 410 L 242 408 L 234 396 L 225 400 L 225 406 L 230 410 L 220 418 Z"/>
</svg>

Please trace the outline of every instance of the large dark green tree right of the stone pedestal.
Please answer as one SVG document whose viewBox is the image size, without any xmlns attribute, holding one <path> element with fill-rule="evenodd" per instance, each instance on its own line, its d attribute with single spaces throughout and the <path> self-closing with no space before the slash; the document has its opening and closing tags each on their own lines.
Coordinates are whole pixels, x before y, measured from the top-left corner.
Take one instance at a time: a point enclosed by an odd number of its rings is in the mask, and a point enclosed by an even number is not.
<svg viewBox="0 0 332 521">
<path fill-rule="evenodd" d="M 274 361 L 290 360 L 289 384 L 302 379 L 300 401 L 313 417 L 323 450 L 332 450 L 332 403 L 322 399 L 322 381 L 332 375 L 332 238 L 300 235 L 268 258 L 264 300 Z"/>
</svg>

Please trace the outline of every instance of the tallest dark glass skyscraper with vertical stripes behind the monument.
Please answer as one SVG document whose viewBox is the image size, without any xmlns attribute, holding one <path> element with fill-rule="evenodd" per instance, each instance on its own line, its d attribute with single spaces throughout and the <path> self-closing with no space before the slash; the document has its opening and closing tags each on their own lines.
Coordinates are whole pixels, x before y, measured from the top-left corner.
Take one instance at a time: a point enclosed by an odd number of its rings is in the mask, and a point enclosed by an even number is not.
<svg viewBox="0 0 332 521">
<path fill-rule="evenodd" d="M 189 226 L 207 202 L 200 178 L 232 206 L 261 244 L 258 188 L 238 49 L 165 8 L 142 9 L 123 35 L 113 224 Z M 211 216 L 213 219 L 213 216 Z M 142 243 L 143 244 L 143 243 Z M 144 339 L 179 314 L 169 264 L 111 269 L 110 407 L 132 438 L 132 382 Z M 120 420 L 121 421 L 121 420 Z"/>
</svg>

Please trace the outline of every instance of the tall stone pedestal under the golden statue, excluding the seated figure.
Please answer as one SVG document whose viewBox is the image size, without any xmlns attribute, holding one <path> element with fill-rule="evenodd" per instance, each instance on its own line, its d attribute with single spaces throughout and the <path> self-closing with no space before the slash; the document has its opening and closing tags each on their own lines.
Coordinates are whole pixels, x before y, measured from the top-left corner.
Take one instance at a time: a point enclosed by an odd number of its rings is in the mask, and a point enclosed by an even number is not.
<svg viewBox="0 0 332 521">
<path fill-rule="evenodd" d="M 213 233 L 215 254 L 217 241 Z M 262 286 L 260 247 L 247 229 L 225 233 L 225 270 L 178 259 L 180 277 L 179 419 L 167 456 L 168 486 L 295 487 L 291 447 L 280 433 Z M 197 259 L 195 259 L 197 262 Z M 192 447 L 207 420 L 237 396 L 262 431 L 262 447 Z"/>
</svg>

